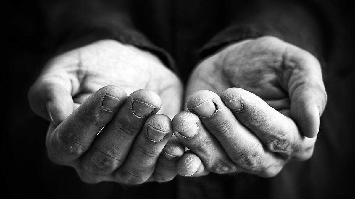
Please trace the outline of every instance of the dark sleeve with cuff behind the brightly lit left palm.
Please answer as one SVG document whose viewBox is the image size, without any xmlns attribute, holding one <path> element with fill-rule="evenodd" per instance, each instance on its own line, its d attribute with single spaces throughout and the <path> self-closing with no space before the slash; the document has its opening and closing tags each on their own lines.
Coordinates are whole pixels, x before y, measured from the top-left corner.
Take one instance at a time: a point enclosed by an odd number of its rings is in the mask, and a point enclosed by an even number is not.
<svg viewBox="0 0 355 199">
<path fill-rule="evenodd" d="M 100 39 L 114 39 L 154 53 L 176 71 L 169 53 L 152 44 L 132 24 L 129 0 L 52 0 L 43 7 L 57 53 Z"/>
</svg>

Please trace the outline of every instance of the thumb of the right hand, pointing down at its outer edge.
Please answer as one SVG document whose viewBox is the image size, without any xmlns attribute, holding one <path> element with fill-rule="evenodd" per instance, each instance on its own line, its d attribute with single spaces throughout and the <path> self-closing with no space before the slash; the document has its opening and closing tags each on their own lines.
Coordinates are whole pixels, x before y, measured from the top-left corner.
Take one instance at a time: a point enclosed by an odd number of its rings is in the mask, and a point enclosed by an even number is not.
<svg viewBox="0 0 355 199">
<path fill-rule="evenodd" d="M 288 80 L 291 116 L 306 137 L 319 131 L 320 115 L 327 103 L 320 63 L 310 53 L 297 51 L 288 55 L 293 72 Z M 288 65 L 288 63 L 286 63 Z"/>
</svg>

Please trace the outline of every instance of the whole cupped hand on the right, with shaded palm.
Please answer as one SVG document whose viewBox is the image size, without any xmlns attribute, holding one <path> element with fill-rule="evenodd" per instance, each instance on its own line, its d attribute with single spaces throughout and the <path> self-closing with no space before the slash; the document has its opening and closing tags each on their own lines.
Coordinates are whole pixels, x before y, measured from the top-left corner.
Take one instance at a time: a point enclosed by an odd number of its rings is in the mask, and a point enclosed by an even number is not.
<svg viewBox="0 0 355 199">
<path fill-rule="evenodd" d="M 309 159 L 327 100 L 317 59 L 271 36 L 202 61 L 186 93 L 190 112 L 173 119 L 176 137 L 191 149 L 178 161 L 185 176 L 271 177 L 292 159 Z"/>
</svg>

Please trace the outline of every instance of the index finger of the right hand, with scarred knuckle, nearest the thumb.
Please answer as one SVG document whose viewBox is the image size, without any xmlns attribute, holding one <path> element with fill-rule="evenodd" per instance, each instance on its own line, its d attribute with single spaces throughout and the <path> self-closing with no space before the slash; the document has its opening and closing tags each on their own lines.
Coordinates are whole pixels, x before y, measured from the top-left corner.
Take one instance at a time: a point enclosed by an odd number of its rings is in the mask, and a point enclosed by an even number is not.
<svg viewBox="0 0 355 199">
<path fill-rule="evenodd" d="M 289 117 L 270 107 L 257 95 L 240 88 L 229 88 L 221 97 L 237 120 L 248 127 L 271 152 L 278 152 L 286 159 L 310 158 L 316 138 L 300 134 Z"/>
</svg>

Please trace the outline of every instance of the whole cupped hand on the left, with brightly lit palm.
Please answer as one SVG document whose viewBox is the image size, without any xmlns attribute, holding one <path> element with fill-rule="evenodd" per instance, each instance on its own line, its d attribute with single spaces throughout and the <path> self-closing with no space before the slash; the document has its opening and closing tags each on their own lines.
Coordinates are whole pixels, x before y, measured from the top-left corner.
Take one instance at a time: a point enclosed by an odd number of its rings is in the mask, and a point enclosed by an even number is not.
<svg viewBox="0 0 355 199">
<path fill-rule="evenodd" d="M 28 93 L 34 112 L 51 121 L 54 163 L 74 167 L 84 182 L 122 184 L 174 178 L 184 147 L 170 139 L 168 116 L 180 111 L 181 96 L 180 80 L 158 58 L 113 40 L 55 57 Z"/>
</svg>

